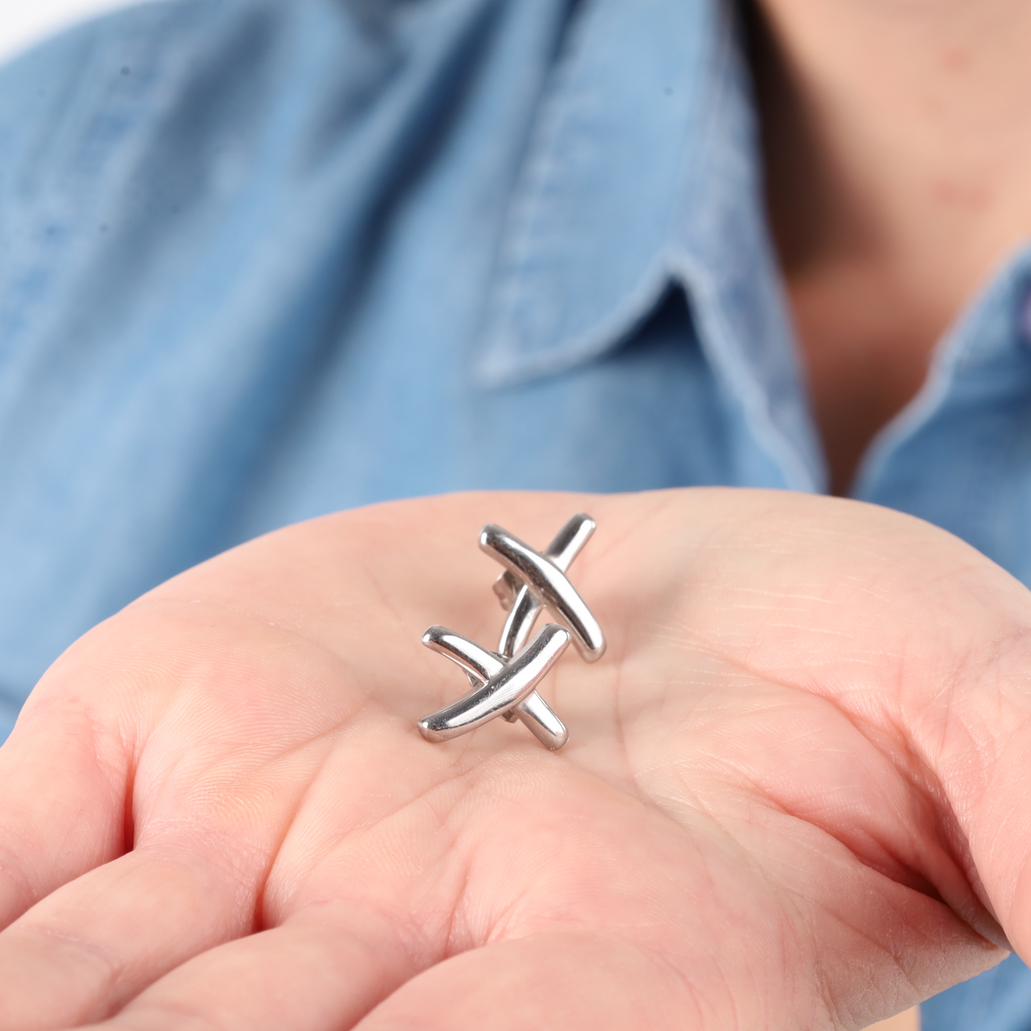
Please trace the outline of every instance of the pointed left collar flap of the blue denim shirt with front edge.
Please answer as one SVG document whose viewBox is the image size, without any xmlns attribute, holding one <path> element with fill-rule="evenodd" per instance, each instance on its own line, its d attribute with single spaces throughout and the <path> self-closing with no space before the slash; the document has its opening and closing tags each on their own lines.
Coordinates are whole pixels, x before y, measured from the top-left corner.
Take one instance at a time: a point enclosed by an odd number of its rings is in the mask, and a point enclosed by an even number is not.
<svg viewBox="0 0 1031 1031">
<path fill-rule="evenodd" d="M 509 212 L 476 372 L 501 387 L 588 362 L 680 286 L 728 403 L 785 486 L 820 490 L 740 42 L 722 0 L 581 9 Z"/>
</svg>

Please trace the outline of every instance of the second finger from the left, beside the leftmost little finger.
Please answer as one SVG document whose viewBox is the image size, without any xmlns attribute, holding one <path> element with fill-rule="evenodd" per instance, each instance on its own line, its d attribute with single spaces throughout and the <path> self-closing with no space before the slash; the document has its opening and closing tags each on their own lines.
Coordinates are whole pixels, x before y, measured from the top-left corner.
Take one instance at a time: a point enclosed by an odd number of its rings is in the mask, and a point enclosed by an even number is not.
<svg viewBox="0 0 1031 1031">
<path fill-rule="evenodd" d="M 188 850 L 133 852 L 59 888 L 0 933 L 0 1027 L 77 1026 L 251 929 L 254 874 Z"/>
</svg>

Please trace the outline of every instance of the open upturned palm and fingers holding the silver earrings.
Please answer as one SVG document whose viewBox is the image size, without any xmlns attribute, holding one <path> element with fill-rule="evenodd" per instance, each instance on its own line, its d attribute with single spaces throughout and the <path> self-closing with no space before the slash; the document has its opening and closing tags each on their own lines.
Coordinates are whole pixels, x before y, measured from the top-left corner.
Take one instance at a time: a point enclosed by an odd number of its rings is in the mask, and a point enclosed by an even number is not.
<svg viewBox="0 0 1031 1031">
<path fill-rule="evenodd" d="M 548 753 L 488 644 L 498 522 L 599 530 Z M 855 1028 L 1031 954 L 1031 595 L 947 534 L 745 491 L 328 517 L 70 648 L 0 750 L 0 1029 Z M 992 944 L 994 941 L 997 944 Z"/>
</svg>

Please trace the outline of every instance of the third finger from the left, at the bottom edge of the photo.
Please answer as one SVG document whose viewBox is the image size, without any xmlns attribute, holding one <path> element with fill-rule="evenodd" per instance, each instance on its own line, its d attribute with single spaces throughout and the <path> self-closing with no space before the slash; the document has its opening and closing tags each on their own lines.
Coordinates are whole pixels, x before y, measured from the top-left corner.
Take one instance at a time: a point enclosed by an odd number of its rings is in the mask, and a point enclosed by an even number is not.
<svg viewBox="0 0 1031 1031">
<path fill-rule="evenodd" d="M 377 913 L 330 902 L 195 957 L 96 1031 L 340 1031 L 415 972 L 417 951 Z"/>
</svg>

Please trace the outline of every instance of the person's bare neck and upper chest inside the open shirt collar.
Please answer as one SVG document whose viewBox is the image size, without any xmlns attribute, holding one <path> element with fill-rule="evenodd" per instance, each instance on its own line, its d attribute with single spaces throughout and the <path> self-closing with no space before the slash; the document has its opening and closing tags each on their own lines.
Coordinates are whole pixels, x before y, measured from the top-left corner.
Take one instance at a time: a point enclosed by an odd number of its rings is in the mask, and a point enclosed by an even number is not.
<svg viewBox="0 0 1031 1031">
<path fill-rule="evenodd" d="M 1031 235 L 1031 5 L 760 3 L 769 214 L 840 489 L 943 329 Z M 821 391 L 864 375 L 835 445 L 841 398 Z"/>
</svg>

